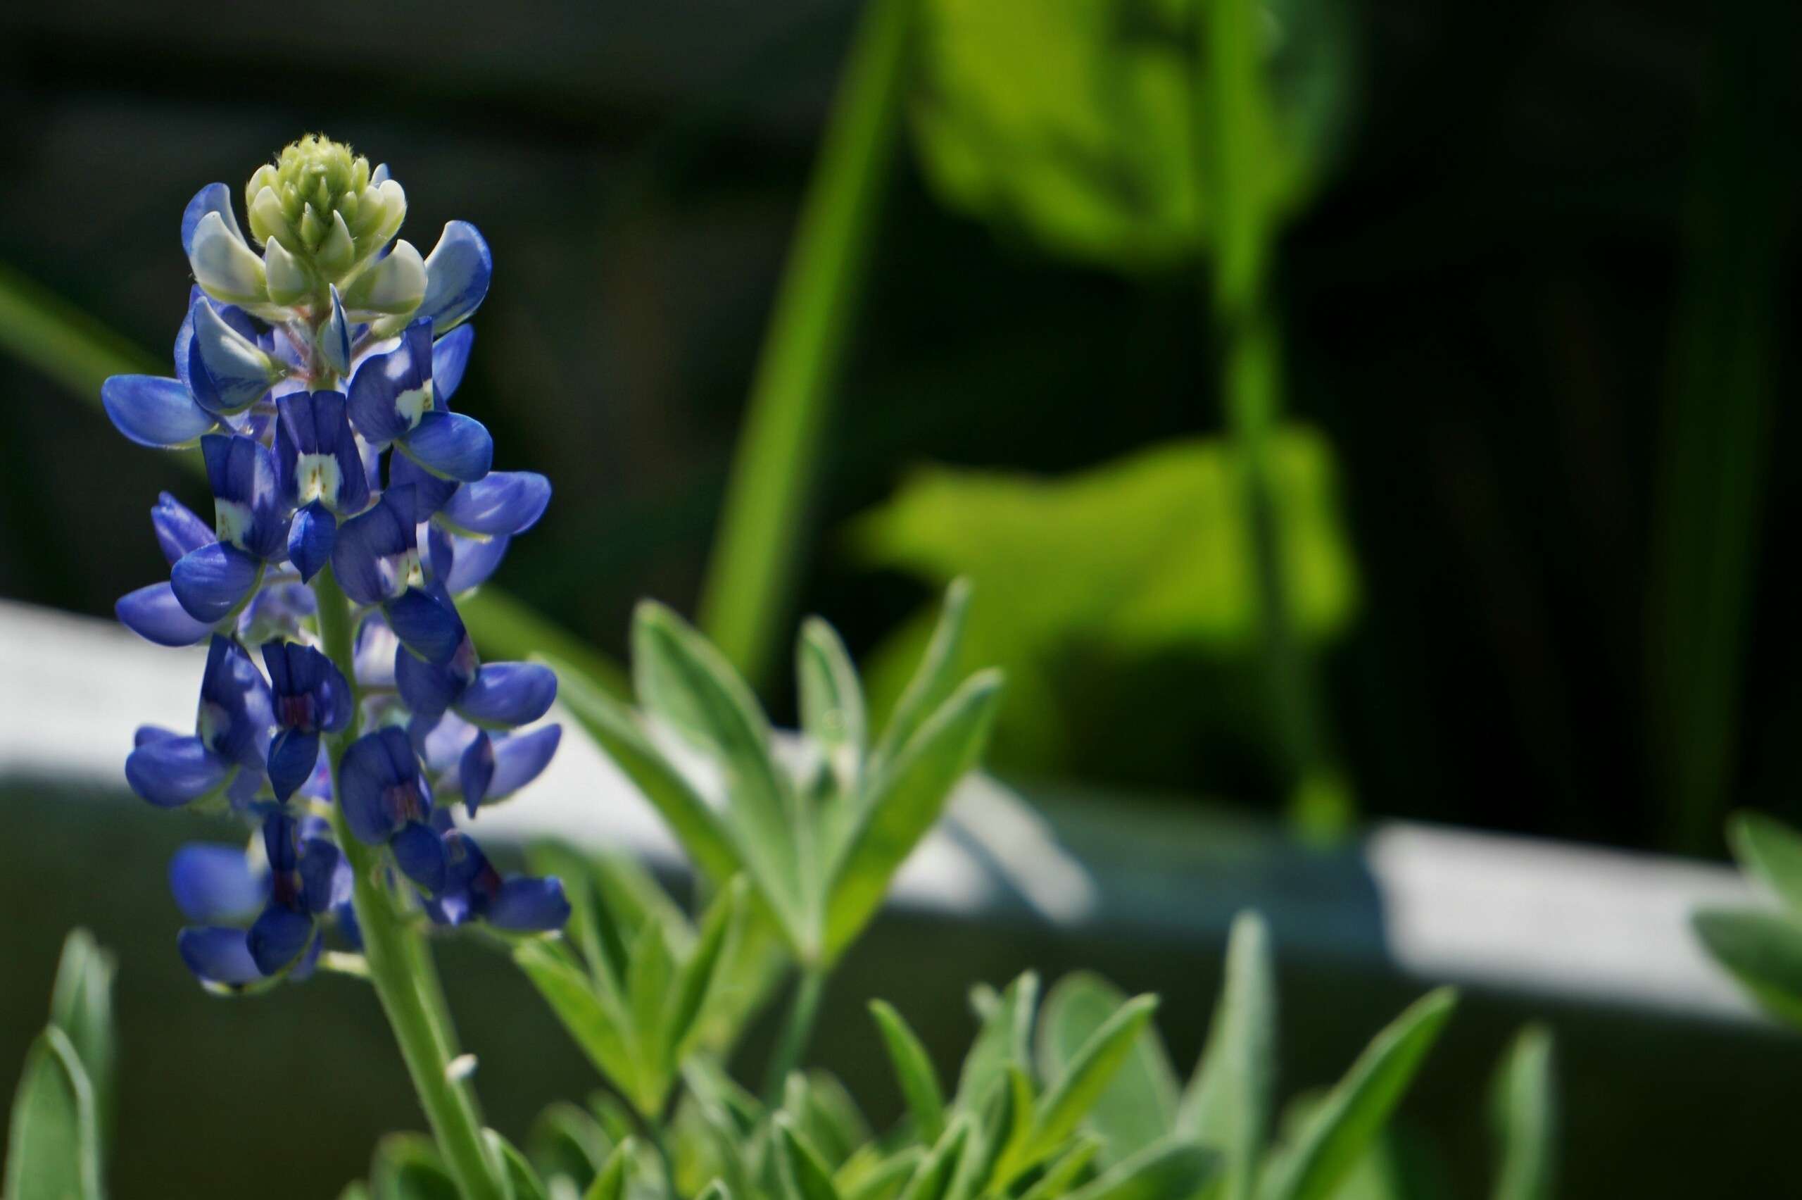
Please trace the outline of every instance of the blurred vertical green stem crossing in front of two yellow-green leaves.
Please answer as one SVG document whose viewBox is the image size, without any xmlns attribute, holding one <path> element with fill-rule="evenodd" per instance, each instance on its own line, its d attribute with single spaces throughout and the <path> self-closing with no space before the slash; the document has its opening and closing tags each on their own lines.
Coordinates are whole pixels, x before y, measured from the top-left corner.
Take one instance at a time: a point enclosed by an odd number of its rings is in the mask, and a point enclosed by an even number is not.
<svg viewBox="0 0 1802 1200">
<path fill-rule="evenodd" d="M 1224 353 L 1227 427 L 1249 492 L 1270 724 L 1292 773 L 1290 822 L 1305 834 L 1330 838 L 1346 829 L 1355 800 L 1328 757 L 1312 663 L 1296 638 L 1270 479 L 1283 378 L 1267 285 L 1278 214 L 1265 166 L 1274 128 L 1263 70 L 1263 7 L 1258 0 L 1198 0 L 1197 7 L 1197 137 L 1213 232 L 1213 324 Z"/>
</svg>

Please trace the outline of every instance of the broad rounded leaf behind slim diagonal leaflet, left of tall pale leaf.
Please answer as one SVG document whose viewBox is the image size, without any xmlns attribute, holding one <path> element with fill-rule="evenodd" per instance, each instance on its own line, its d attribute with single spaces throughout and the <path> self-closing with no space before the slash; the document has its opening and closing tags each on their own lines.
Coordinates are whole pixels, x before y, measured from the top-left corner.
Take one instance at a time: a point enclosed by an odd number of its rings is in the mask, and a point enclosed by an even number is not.
<svg viewBox="0 0 1802 1200">
<path fill-rule="evenodd" d="M 1126 1004 L 1126 993 L 1099 975 L 1078 971 L 1058 980 L 1038 1020 L 1038 1074 L 1060 1079 L 1083 1043 Z M 1101 1135 L 1103 1164 L 1119 1162 L 1166 1137 L 1177 1121 L 1177 1072 L 1155 1025 L 1132 1047 L 1096 1099 L 1085 1126 Z"/>
</svg>

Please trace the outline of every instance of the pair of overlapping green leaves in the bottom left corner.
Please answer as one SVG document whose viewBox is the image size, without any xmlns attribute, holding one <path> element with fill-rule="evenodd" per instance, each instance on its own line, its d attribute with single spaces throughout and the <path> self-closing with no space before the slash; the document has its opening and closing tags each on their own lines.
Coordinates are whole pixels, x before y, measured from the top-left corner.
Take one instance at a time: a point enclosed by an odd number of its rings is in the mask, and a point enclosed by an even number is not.
<svg viewBox="0 0 1802 1200">
<path fill-rule="evenodd" d="M 86 930 L 63 942 L 50 1023 L 25 1052 L 7 1132 L 7 1200 L 99 1200 L 108 1142 L 114 959 Z"/>
</svg>

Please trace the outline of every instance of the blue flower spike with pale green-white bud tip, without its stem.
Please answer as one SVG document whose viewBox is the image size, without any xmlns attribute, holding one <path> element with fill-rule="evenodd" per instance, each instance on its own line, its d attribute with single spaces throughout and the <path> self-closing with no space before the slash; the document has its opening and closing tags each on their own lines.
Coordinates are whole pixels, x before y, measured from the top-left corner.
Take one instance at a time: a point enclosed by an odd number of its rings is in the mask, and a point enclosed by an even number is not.
<svg viewBox="0 0 1802 1200">
<path fill-rule="evenodd" d="M 305 978 L 332 926 L 359 944 L 332 805 L 434 923 L 559 928 L 562 885 L 503 877 L 452 818 L 537 778 L 560 737 L 539 723 L 555 676 L 479 661 L 458 616 L 550 503 L 544 476 L 492 470 L 488 431 L 450 411 L 488 245 L 450 222 L 420 258 L 395 240 L 407 200 L 387 168 L 317 135 L 258 168 L 245 209 L 250 238 L 223 184 L 182 216 L 195 288 L 175 375 L 101 389 L 132 441 L 198 447 L 213 492 L 211 521 L 157 501 L 169 578 L 117 604 L 157 645 L 207 647 L 193 733 L 141 728 L 126 780 L 252 831 L 249 847 L 177 852 L 169 883 L 195 923 L 182 959 L 207 986 L 245 989 Z M 328 656 L 319 613 L 341 593 L 348 663 Z M 333 775 L 328 742 L 351 733 Z"/>
</svg>

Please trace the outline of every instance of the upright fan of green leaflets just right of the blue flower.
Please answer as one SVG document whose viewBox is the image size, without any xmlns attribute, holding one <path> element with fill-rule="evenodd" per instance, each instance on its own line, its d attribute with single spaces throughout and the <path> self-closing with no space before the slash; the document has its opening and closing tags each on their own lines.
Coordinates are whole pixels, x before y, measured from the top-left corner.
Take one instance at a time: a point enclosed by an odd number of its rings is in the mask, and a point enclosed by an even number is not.
<svg viewBox="0 0 1802 1200">
<path fill-rule="evenodd" d="M 962 620 L 962 591 L 953 589 L 941 647 L 957 643 Z M 796 658 L 807 717 L 798 762 L 780 753 L 739 674 L 661 605 L 640 605 L 633 625 L 638 712 L 577 667 L 555 665 L 564 705 L 696 865 L 717 885 L 742 874 L 795 960 L 827 968 L 876 915 L 894 872 L 975 766 L 1000 676 L 977 672 L 950 688 L 951 656 L 926 656 L 910 705 L 867 750 L 861 690 L 836 634 L 809 622 Z M 681 755 L 712 766 L 724 805 L 708 804 Z"/>
</svg>

